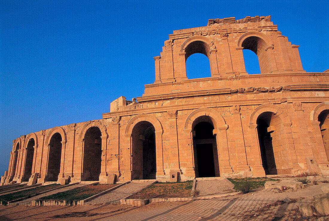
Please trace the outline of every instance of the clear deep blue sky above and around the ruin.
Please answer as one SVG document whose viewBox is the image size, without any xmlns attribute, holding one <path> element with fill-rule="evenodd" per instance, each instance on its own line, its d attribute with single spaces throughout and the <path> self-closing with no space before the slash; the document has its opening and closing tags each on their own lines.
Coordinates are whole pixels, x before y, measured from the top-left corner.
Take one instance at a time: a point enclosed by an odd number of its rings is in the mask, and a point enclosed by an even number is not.
<svg viewBox="0 0 329 221">
<path fill-rule="evenodd" d="M 1 1 L 0 175 L 20 135 L 101 119 L 117 97 L 141 96 L 168 35 L 210 18 L 272 15 L 300 45 L 306 71 L 329 69 L 328 9 L 328 1 Z"/>
</svg>

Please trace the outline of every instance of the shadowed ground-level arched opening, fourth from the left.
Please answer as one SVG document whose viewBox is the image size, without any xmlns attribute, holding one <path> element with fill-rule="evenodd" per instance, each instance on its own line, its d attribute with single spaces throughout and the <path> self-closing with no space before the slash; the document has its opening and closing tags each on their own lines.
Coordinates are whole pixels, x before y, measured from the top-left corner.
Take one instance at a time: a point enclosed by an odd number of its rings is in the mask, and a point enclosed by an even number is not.
<svg viewBox="0 0 329 221">
<path fill-rule="evenodd" d="M 84 137 L 84 159 L 81 181 L 97 181 L 101 173 L 102 163 L 102 132 L 90 127 Z"/>
</svg>

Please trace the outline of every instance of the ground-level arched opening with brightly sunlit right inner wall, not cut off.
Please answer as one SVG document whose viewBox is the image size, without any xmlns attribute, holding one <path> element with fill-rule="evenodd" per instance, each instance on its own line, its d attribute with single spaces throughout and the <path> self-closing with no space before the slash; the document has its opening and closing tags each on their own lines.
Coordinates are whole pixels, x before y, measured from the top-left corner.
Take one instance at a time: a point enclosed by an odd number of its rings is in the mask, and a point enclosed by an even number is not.
<svg viewBox="0 0 329 221">
<path fill-rule="evenodd" d="M 288 174 L 289 160 L 284 148 L 282 120 L 273 112 L 264 112 L 257 118 L 257 132 L 263 168 L 266 175 Z"/>
</svg>

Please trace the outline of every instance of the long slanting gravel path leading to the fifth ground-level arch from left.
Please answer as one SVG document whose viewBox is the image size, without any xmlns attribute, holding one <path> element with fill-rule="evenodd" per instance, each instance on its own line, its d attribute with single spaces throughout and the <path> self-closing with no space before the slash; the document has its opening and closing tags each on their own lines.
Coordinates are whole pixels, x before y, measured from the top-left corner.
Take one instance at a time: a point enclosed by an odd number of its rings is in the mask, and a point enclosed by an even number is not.
<svg viewBox="0 0 329 221">
<path fill-rule="evenodd" d="M 150 180 L 145 182 L 130 182 L 128 184 L 120 186 L 119 188 L 109 193 L 100 195 L 99 197 L 96 197 L 95 199 L 86 203 L 87 204 L 99 204 L 99 203 L 119 204 L 122 198 L 130 196 L 131 194 L 150 185 L 152 182 L 154 181 Z"/>
</svg>

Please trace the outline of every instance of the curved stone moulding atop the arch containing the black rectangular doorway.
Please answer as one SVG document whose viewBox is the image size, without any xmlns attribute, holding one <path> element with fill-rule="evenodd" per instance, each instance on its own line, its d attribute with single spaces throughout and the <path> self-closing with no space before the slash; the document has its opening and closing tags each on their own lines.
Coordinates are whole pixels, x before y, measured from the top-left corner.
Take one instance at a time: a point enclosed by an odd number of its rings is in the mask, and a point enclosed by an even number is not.
<svg viewBox="0 0 329 221">
<path fill-rule="evenodd" d="M 186 119 L 184 130 L 192 131 L 194 120 L 201 116 L 209 116 L 213 120 L 215 129 L 221 126 L 227 128 L 224 118 L 217 111 L 210 108 L 201 108 L 193 111 Z"/>
</svg>

